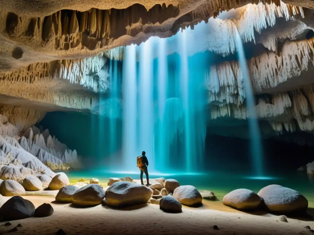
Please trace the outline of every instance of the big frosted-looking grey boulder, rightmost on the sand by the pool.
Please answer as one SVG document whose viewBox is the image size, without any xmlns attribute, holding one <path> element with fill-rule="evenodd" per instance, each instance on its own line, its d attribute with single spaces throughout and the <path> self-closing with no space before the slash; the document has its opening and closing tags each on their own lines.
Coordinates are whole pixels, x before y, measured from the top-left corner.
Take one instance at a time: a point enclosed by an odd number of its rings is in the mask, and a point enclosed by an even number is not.
<svg viewBox="0 0 314 235">
<path fill-rule="evenodd" d="M 308 201 L 300 192 L 281 185 L 268 185 L 257 194 L 271 212 L 290 214 L 307 210 Z"/>
</svg>

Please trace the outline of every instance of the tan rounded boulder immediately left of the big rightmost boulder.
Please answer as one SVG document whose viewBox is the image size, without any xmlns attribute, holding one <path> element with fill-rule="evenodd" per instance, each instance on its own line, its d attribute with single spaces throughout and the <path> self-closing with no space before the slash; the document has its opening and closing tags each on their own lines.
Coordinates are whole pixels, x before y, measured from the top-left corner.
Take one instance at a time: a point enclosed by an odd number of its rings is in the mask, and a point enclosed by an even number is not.
<svg viewBox="0 0 314 235">
<path fill-rule="evenodd" d="M 226 194 L 222 203 L 239 210 L 252 210 L 261 204 L 262 199 L 248 189 L 236 189 Z"/>
</svg>

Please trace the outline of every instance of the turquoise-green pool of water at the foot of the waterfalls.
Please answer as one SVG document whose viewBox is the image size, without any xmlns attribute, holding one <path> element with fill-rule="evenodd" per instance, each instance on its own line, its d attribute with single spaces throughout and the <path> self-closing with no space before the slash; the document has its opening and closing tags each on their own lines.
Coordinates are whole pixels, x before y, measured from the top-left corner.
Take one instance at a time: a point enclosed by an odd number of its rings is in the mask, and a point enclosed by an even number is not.
<svg viewBox="0 0 314 235">
<path fill-rule="evenodd" d="M 77 182 L 81 178 L 89 181 L 90 178 L 97 178 L 101 185 L 106 185 L 110 177 L 130 176 L 132 179 L 140 178 L 140 171 L 115 173 L 106 170 L 69 170 L 65 172 L 71 183 Z M 310 178 L 304 172 L 290 172 L 278 175 L 272 175 L 267 178 L 255 178 L 251 175 L 235 174 L 223 171 L 210 171 L 208 173 L 195 174 L 153 174 L 149 178 L 164 177 L 165 179 L 176 179 L 181 185 L 193 185 L 198 190 L 210 190 L 214 192 L 219 200 L 228 192 L 246 188 L 258 192 L 261 188 L 278 184 L 294 190 L 300 191 L 309 201 L 309 207 L 314 208 L 314 177 Z M 143 176 L 145 179 L 145 175 Z"/>
</svg>

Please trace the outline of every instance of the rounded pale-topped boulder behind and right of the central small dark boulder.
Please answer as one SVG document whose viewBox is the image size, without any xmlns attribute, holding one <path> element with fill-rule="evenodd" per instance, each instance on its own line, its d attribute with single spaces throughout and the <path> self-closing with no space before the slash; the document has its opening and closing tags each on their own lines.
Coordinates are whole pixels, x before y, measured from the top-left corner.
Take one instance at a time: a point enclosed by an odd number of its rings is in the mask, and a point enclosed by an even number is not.
<svg viewBox="0 0 314 235">
<path fill-rule="evenodd" d="M 201 205 L 203 197 L 200 194 L 200 192 L 192 185 L 184 185 L 177 187 L 172 196 L 178 201 L 181 202 L 181 204 L 186 206 L 196 206 Z"/>
</svg>

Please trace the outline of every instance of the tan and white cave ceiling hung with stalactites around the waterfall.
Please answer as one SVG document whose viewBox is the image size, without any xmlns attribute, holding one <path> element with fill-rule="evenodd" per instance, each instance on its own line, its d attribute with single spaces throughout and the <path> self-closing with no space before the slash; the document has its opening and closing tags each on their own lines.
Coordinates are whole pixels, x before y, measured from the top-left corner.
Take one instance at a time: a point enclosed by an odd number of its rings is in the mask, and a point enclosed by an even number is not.
<svg viewBox="0 0 314 235">
<path fill-rule="evenodd" d="M 35 110 L 40 120 L 55 110 L 97 112 L 106 106 L 99 93 L 110 86 L 108 60 L 122 60 L 126 45 L 188 28 L 188 44 L 198 39 L 188 55 L 225 58 L 209 65 L 205 79 L 212 125 L 241 123 L 248 118 L 242 73 L 227 59 L 236 54 L 237 30 L 252 48 L 247 64 L 265 130 L 314 130 L 312 0 L 15 0 L 0 8 L 0 103 L 7 115 Z M 176 36 L 169 55 L 180 54 Z"/>
</svg>

